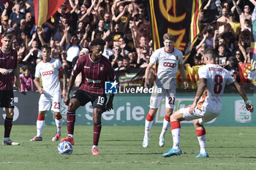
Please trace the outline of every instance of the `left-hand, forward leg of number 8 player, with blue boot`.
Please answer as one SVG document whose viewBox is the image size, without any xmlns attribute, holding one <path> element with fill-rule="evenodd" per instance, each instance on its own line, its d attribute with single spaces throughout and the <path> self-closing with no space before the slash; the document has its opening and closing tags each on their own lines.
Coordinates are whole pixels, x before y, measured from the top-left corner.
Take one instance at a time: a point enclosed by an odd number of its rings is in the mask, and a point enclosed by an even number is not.
<svg viewBox="0 0 256 170">
<path fill-rule="evenodd" d="M 184 115 L 181 110 L 173 113 L 170 116 L 170 125 L 173 135 L 173 147 L 170 150 L 163 154 L 163 157 L 170 157 L 173 155 L 181 155 L 181 148 L 180 148 L 180 136 L 181 136 L 181 121 L 184 120 Z"/>
</svg>

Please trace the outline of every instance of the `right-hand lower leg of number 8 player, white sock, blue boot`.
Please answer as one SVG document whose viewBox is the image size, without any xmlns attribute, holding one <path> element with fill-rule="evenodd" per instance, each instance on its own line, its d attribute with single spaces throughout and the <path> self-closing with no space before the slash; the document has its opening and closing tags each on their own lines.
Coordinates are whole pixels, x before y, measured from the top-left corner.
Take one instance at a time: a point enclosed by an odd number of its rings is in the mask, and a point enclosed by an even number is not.
<svg viewBox="0 0 256 170">
<path fill-rule="evenodd" d="M 208 153 L 206 152 L 206 129 L 200 124 L 200 120 L 194 120 L 194 127 L 197 133 L 197 139 L 200 145 L 200 153 L 196 158 L 208 158 Z"/>
</svg>

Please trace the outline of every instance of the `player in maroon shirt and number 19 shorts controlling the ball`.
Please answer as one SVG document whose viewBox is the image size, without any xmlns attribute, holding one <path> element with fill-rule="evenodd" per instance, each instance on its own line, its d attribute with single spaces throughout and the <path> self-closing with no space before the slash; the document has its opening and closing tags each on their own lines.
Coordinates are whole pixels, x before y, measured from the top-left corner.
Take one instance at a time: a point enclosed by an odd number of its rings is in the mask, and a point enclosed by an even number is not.
<svg viewBox="0 0 256 170">
<path fill-rule="evenodd" d="M 92 155 L 99 155 L 98 142 L 102 128 L 101 117 L 105 110 L 113 109 L 113 94 L 107 103 L 105 94 L 105 81 L 113 81 L 116 76 L 108 58 L 105 58 L 102 53 L 104 50 L 105 41 L 103 39 L 94 39 L 91 42 L 92 53 L 83 55 L 78 59 L 72 70 L 72 75 L 69 80 L 67 93 L 65 94 L 64 103 L 68 105 L 67 110 L 67 132 L 68 136 L 61 139 L 61 142 L 68 141 L 72 145 L 75 144 L 73 139 L 75 127 L 75 110 L 80 106 L 84 106 L 91 101 L 93 110 L 94 122 L 94 139 L 91 149 Z M 75 92 L 69 101 L 69 93 L 72 89 L 75 77 L 82 72 L 82 82 L 79 90 Z"/>
</svg>

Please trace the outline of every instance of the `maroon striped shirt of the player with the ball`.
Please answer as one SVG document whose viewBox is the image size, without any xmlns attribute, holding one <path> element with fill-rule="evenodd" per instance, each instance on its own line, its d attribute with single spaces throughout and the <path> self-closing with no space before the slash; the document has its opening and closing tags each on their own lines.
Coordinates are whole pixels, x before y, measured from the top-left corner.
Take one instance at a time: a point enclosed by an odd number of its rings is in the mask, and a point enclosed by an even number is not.
<svg viewBox="0 0 256 170">
<path fill-rule="evenodd" d="M 72 75 L 76 77 L 80 72 L 82 82 L 79 89 L 89 93 L 104 94 L 105 81 L 113 81 L 116 78 L 110 61 L 103 55 L 96 62 L 91 60 L 91 53 L 80 57 L 72 70 Z"/>
</svg>

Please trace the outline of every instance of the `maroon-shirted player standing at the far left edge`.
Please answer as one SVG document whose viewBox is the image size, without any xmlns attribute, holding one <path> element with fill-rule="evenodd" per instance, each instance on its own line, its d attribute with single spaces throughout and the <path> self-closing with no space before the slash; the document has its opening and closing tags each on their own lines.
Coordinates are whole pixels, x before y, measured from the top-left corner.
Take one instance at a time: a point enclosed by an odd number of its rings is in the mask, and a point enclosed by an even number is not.
<svg viewBox="0 0 256 170">
<path fill-rule="evenodd" d="M 12 35 L 4 33 L 1 35 L 0 47 L 0 107 L 5 107 L 6 117 L 4 120 L 4 145 L 20 145 L 12 142 L 10 133 L 14 115 L 13 77 L 16 77 L 16 85 L 20 90 L 19 73 L 17 67 L 17 51 L 12 50 Z"/>
</svg>

